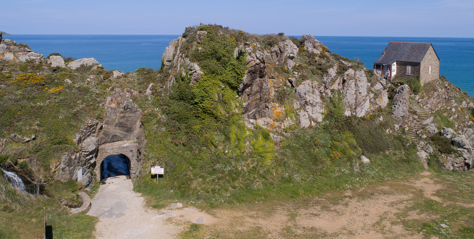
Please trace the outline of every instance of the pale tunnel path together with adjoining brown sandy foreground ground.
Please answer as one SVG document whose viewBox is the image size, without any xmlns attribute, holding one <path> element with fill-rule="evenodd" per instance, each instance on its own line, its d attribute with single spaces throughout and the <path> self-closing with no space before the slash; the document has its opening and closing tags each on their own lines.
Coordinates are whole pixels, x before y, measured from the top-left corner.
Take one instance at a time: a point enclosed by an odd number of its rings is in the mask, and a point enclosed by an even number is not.
<svg viewBox="0 0 474 239">
<path fill-rule="evenodd" d="M 434 215 L 410 210 L 410 205 L 420 198 L 449 204 L 437 196 L 449 187 L 425 171 L 367 188 L 291 202 L 207 209 L 208 214 L 186 205 L 173 210 L 146 208 L 144 198 L 132 191 L 131 180 L 116 177 L 100 186 L 88 214 L 100 219 L 98 239 L 176 238 L 191 223 L 203 225 L 202 235 L 196 238 L 427 239 L 403 228 L 401 220 L 434 219 Z"/>
</svg>

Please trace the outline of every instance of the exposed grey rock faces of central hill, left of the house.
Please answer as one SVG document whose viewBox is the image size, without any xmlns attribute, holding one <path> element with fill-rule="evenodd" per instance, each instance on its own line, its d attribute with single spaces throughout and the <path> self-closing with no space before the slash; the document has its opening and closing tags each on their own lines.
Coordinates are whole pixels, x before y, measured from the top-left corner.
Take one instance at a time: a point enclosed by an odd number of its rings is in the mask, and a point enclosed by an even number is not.
<svg viewBox="0 0 474 239">
<path fill-rule="evenodd" d="M 207 32 L 193 34 L 188 37 L 191 40 L 180 36 L 166 47 L 163 62 L 170 75 L 168 88 L 178 74 L 190 76 L 191 84 L 203 74 L 189 53 L 199 49 Z M 386 80 L 378 76 L 367 78 L 369 70 L 362 64 L 331 54 L 312 35 L 297 40 L 300 46 L 288 37 L 280 38 L 280 42 L 265 47 L 258 41 L 246 41 L 237 43 L 235 48 L 234 57 L 246 54 L 248 69 L 237 92 L 248 123 L 278 132 L 293 124 L 301 128 L 315 125 L 325 115 L 325 101 L 338 91 L 345 96 L 348 116 L 361 117 L 387 105 Z M 186 49 L 189 44 L 191 51 Z M 316 75 L 312 73 L 318 69 Z M 289 95 L 283 99 L 286 102 L 278 98 L 279 93 Z"/>
</svg>

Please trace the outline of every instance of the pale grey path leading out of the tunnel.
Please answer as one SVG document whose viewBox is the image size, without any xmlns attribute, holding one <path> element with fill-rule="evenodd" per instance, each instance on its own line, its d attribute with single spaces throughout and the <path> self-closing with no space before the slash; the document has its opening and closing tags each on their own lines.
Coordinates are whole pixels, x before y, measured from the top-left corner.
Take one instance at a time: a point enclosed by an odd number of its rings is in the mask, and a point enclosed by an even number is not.
<svg viewBox="0 0 474 239">
<path fill-rule="evenodd" d="M 94 232 L 97 239 L 167 239 L 191 221 L 211 224 L 210 215 L 195 208 L 153 210 L 144 207 L 144 198 L 133 192 L 125 176 L 109 178 L 91 200 L 88 215 L 99 217 Z"/>
</svg>

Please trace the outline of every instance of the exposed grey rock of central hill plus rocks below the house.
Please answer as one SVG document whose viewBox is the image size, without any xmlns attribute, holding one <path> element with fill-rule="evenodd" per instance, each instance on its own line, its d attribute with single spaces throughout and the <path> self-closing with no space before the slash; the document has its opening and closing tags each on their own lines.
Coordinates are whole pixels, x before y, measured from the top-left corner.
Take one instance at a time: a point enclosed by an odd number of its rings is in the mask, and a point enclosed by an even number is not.
<svg viewBox="0 0 474 239">
<path fill-rule="evenodd" d="M 191 84 L 205 74 L 200 62 L 193 62 L 190 53 L 200 51 L 206 34 L 203 30 L 190 31 L 166 47 L 163 69 L 169 75 L 169 90 L 179 74 L 191 77 Z M 219 34 L 234 37 L 223 30 Z M 457 130 L 455 136 L 448 137 L 453 145 L 450 147 L 454 150 L 456 146 L 457 150 L 455 154 L 442 153 L 438 162 L 448 170 L 464 171 L 473 167 L 470 148 L 473 141 L 469 138 L 473 124 L 472 98 L 447 80 L 440 78 L 415 95 L 407 84 L 385 80 L 359 62 L 330 53 L 312 35 L 303 35 L 301 39 L 274 37 L 277 39 L 272 39 L 270 44 L 261 37 L 237 41 L 234 50 L 234 57 L 246 55 L 247 70 L 237 88 L 237 98 L 242 102 L 247 126 L 259 125 L 284 135 L 289 135 L 285 129 L 292 125 L 316 126 L 327 114 L 330 99 L 342 94 L 346 116 L 370 117 L 377 109 L 390 106 L 395 123 L 386 129 L 387 133 L 406 132 L 419 144 L 418 157 L 422 162 L 434 153 L 433 147 L 438 147 L 430 136 L 437 135 L 444 124 L 435 122 L 449 119 Z M 437 120 L 426 121 L 433 117 Z"/>
</svg>

